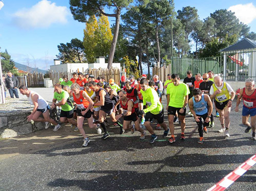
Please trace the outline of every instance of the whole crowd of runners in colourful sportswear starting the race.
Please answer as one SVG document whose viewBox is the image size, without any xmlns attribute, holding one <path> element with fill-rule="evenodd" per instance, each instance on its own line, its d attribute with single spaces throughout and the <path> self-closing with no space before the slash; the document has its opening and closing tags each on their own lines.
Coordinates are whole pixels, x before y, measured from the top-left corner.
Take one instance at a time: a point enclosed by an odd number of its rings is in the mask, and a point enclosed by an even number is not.
<svg viewBox="0 0 256 191">
<path fill-rule="evenodd" d="M 141 133 L 140 139 L 145 139 L 146 131 L 151 134 L 152 144 L 157 136 L 151 126 L 152 120 L 157 121 L 157 128 L 163 128 L 163 137 L 170 133 L 169 142 L 172 144 L 177 137 L 174 136 L 174 123 L 178 120 L 181 126 L 181 140 L 185 140 L 185 116 L 187 114 L 194 117 L 198 124 L 199 144 L 203 144 L 203 132 L 207 133 L 207 127 L 214 127 L 213 122 L 213 102 L 216 109 L 216 116 L 220 117 L 220 133 L 225 133 L 229 137 L 229 114 L 235 92 L 232 87 L 223 82 L 220 76 L 213 77 L 212 71 L 203 74 L 196 74 L 195 78 L 191 71 L 187 72 L 187 77 L 180 81 L 178 74 L 168 74 L 168 80 L 163 84 L 158 76 L 154 76 L 152 81 L 146 79 L 146 75 L 137 80 L 131 76 L 128 79 L 122 76 L 120 85 L 113 79 L 109 83 L 102 77 L 94 78 L 92 75 L 73 73 L 73 78 L 68 80 L 67 76 L 60 79 L 60 83 L 54 85 L 54 96 L 51 108 L 61 107 L 60 122 L 70 123 L 75 126 L 74 131 L 80 131 L 84 137 L 83 147 L 86 147 L 90 139 L 86 136 L 83 128 L 84 119 L 87 118 L 88 126 L 95 129 L 98 134 L 104 134 L 103 139 L 108 138 L 109 115 L 111 121 L 119 126 L 120 134 L 130 129 L 131 134 L 136 131 Z M 164 107 L 161 103 L 162 93 L 166 89 L 168 122 L 164 122 Z M 24 85 L 19 87 L 19 91 L 26 95 L 31 104 L 34 105 L 32 113 L 27 117 L 28 121 L 40 121 L 46 123 L 46 129 L 53 124 L 53 131 L 60 129 L 50 118 L 48 103 L 36 92 L 28 90 Z M 245 88 L 241 89 L 235 111 L 239 111 L 239 104 L 243 98 L 242 122 L 247 126 L 245 132 L 252 129 L 252 139 L 255 137 L 256 122 L 256 88 L 254 81 L 247 79 Z M 43 117 L 40 115 L 43 113 Z M 251 116 L 251 123 L 248 118 Z M 123 124 L 120 118 L 123 117 Z M 145 127 L 145 128 L 144 128 Z M 102 129 L 101 129 L 102 128 Z"/>
</svg>

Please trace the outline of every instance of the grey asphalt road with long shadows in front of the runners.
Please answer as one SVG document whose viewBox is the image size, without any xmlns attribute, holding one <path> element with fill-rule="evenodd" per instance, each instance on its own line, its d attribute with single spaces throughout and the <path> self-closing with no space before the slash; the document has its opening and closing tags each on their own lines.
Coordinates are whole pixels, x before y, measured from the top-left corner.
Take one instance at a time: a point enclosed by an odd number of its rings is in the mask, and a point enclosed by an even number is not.
<svg viewBox="0 0 256 191">
<path fill-rule="evenodd" d="M 51 100 L 52 91 L 38 93 Z M 176 123 L 174 144 L 162 138 L 163 130 L 155 130 L 158 139 L 151 145 L 149 133 L 140 140 L 139 132 L 120 135 L 114 126 L 102 140 L 87 125 L 91 141 L 86 148 L 69 125 L 0 140 L 0 190 L 207 190 L 256 153 L 256 141 L 241 126 L 242 104 L 240 112 L 234 106 L 230 137 L 218 132 L 220 122 L 214 118 L 203 145 L 197 143 L 196 123 L 188 115 L 186 140 L 180 140 Z M 227 190 L 256 190 L 256 165 Z"/>
</svg>

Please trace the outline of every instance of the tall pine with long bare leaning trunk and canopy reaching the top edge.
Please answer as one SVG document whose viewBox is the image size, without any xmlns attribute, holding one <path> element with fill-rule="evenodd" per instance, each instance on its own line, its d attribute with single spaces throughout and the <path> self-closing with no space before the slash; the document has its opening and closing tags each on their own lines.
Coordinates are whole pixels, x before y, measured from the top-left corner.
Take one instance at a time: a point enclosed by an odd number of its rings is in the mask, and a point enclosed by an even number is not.
<svg viewBox="0 0 256 191">
<path fill-rule="evenodd" d="M 80 22 L 87 22 L 87 16 L 100 16 L 101 14 L 115 18 L 114 36 L 111 43 L 108 68 L 112 67 L 115 46 L 120 27 L 120 15 L 123 8 L 127 8 L 133 0 L 70 0 L 70 10 L 73 18 Z M 106 13 L 104 8 L 111 10 L 113 13 Z"/>
</svg>

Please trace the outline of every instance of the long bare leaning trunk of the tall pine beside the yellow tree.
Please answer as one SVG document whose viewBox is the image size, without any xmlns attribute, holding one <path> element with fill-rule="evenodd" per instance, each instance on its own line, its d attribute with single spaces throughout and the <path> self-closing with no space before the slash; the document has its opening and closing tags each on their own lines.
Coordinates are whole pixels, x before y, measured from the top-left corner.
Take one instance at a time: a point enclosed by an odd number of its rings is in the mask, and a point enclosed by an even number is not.
<svg viewBox="0 0 256 191">
<path fill-rule="evenodd" d="M 113 59 L 114 59 L 114 54 L 115 54 L 115 46 L 117 42 L 117 37 L 119 33 L 119 26 L 120 26 L 120 14 L 121 14 L 121 9 L 117 9 L 117 13 L 115 16 L 115 29 L 114 29 L 114 36 L 113 40 L 111 42 L 111 48 L 110 48 L 110 53 L 109 53 L 109 58 L 108 58 L 108 69 L 112 67 Z"/>
</svg>

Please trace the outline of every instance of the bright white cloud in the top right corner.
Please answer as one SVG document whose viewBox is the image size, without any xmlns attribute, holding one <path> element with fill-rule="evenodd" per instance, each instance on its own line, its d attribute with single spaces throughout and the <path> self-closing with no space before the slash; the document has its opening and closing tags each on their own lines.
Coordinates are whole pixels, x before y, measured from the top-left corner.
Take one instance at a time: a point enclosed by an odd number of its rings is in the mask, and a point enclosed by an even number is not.
<svg viewBox="0 0 256 191">
<path fill-rule="evenodd" d="M 256 19 L 256 7 L 252 3 L 249 4 L 239 4 L 228 8 L 228 11 L 234 12 L 234 15 L 239 18 L 241 22 L 249 24 L 254 19 Z"/>
</svg>

